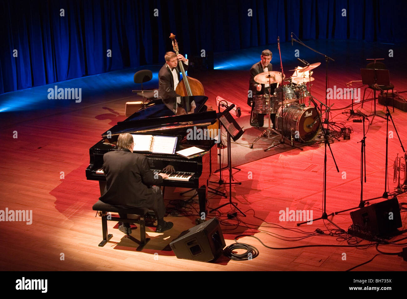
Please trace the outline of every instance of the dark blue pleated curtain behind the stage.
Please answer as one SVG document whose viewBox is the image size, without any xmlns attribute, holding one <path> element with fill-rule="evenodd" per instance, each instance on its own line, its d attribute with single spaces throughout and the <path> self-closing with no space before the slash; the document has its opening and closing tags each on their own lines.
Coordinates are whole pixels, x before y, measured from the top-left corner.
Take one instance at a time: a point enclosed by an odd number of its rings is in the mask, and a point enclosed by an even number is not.
<svg viewBox="0 0 407 299">
<path fill-rule="evenodd" d="M 285 42 L 291 32 L 300 39 L 400 43 L 406 39 L 406 2 L 4 0 L 0 3 L 0 94 L 164 63 L 164 53 L 172 50 L 171 32 L 181 52 L 189 55 L 275 44 L 277 36 Z M 60 9 L 65 16 L 60 16 Z M 107 57 L 107 50 L 112 57 Z"/>
</svg>

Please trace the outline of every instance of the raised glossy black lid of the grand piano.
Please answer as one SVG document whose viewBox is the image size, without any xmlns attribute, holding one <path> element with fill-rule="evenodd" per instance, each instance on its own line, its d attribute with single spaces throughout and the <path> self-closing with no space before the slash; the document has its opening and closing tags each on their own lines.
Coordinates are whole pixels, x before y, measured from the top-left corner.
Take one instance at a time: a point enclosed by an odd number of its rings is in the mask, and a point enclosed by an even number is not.
<svg viewBox="0 0 407 299">
<path fill-rule="evenodd" d="M 114 136 L 120 133 L 143 133 L 182 129 L 193 126 L 208 126 L 217 119 L 216 111 L 206 111 L 207 96 L 180 96 L 157 99 L 145 108 L 129 116 L 123 122 L 102 134 Z"/>
</svg>

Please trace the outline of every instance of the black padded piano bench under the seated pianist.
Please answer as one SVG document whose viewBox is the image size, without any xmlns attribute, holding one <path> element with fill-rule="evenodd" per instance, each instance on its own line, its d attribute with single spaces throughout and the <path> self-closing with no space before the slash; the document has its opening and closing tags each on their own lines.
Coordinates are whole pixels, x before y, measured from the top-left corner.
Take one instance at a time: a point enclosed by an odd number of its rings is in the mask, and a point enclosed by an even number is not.
<svg viewBox="0 0 407 299">
<path fill-rule="evenodd" d="M 141 251 L 144 247 L 145 244 L 150 240 L 149 238 L 146 238 L 146 224 L 145 224 L 145 216 L 147 212 L 149 212 L 149 208 L 146 207 L 117 207 L 114 205 L 109 205 L 107 203 L 104 203 L 103 201 L 97 201 L 92 207 L 92 210 L 94 211 L 101 211 L 99 216 L 102 218 L 102 235 L 103 235 L 103 240 L 102 242 L 99 243 L 100 247 L 103 247 L 107 241 L 109 241 L 113 235 L 107 233 L 107 220 L 110 221 L 116 221 L 116 222 L 126 222 L 126 223 L 138 223 L 140 226 L 140 241 L 135 240 L 139 244 L 137 251 Z M 117 218 L 117 217 L 108 217 L 107 213 L 108 212 L 113 212 L 113 213 L 123 213 L 123 214 L 134 214 L 134 215 L 139 215 L 140 220 L 136 220 L 133 218 Z"/>
</svg>

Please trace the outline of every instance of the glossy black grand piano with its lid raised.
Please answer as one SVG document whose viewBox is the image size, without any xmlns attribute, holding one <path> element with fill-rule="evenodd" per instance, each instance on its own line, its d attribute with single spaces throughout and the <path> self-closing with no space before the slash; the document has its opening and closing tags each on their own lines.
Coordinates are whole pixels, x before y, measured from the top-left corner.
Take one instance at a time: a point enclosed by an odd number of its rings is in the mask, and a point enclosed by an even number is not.
<svg viewBox="0 0 407 299">
<path fill-rule="evenodd" d="M 188 129 L 205 129 L 217 120 L 215 111 L 208 111 L 206 96 L 186 96 L 170 99 L 157 99 L 146 107 L 118 122 L 102 135 L 102 139 L 89 149 L 90 164 L 86 168 L 88 180 L 99 181 L 101 194 L 105 192 L 106 177 L 103 173 L 103 155 L 116 150 L 120 133 L 141 135 L 161 135 L 177 137 L 175 151 L 197 146 L 207 153 L 191 159 L 176 153 L 162 154 L 150 151 L 134 151 L 145 155 L 153 172 L 160 172 L 165 166 L 172 165 L 176 173 L 164 179 L 162 186 L 196 189 L 199 199 L 199 218 L 207 215 L 206 200 L 208 181 L 212 170 L 217 167 L 217 149 L 214 139 L 206 136 L 204 140 L 188 137 Z M 202 139 L 202 138 L 200 138 Z M 137 140 L 135 140 L 137 143 Z M 174 151 L 174 152 L 175 152 Z M 202 214 L 205 213 L 205 214 Z M 205 217 L 203 217 L 205 218 Z"/>
</svg>

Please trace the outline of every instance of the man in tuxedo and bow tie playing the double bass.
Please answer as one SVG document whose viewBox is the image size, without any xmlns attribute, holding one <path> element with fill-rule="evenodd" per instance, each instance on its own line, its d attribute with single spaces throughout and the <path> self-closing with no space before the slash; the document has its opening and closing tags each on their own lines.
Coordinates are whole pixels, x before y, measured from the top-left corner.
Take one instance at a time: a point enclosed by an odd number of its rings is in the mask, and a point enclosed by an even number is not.
<svg viewBox="0 0 407 299">
<path fill-rule="evenodd" d="M 175 54 L 174 52 L 166 52 L 165 64 L 162 66 L 160 72 L 158 72 L 158 96 L 160 98 L 175 98 L 179 96 L 175 92 L 179 83 L 179 70 L 178 60 L 184 63 L 185 70 L 188 69 L 188 59 L 181 54 Z"/>
</svg>

